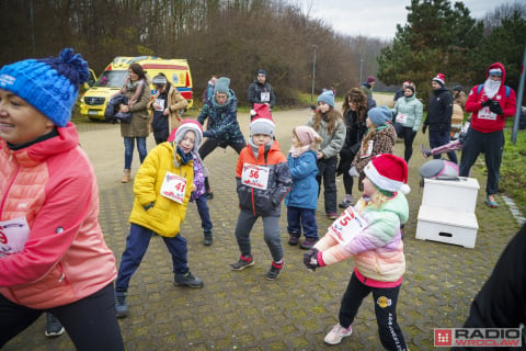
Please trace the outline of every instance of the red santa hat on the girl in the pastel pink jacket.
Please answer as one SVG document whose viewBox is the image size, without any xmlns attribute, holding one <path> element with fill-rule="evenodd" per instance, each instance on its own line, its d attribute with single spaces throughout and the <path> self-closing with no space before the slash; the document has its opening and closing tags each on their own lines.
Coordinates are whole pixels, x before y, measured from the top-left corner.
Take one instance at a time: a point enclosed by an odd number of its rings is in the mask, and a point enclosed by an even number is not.
<svg viewBox="0 0 526 351">
<path fill-rule="evenodd" d="M 378 190 L 389 193 L 400 191 L 408 194 L 408 163 L 403 158 L 390 154 L 374 157 L 364 169 L 365 176 Z"/>
</svg>

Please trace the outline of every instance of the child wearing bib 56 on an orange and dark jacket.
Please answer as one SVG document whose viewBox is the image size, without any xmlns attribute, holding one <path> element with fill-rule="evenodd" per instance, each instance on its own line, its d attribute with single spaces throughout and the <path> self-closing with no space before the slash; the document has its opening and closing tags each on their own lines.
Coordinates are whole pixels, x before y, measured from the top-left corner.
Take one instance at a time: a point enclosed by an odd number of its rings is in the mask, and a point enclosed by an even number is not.
<svg viewBox="0 0 526 351">
<path fill-rule="evenodd" d="M 240 271 L 254 264 L 250 231 L 258 217 L 262 217 L 263 237 L 273 259 L 266 279 L 275 280 L 284 265 L 279 227 L 281 205 L 293 179 L 287 159 L 282 154 L 277 140 L 273 139 L 275 124 L 268 106 L 263 104 L 258 107 L 256 115 L 250 123 L 249 145 L 239 155 L 236 167 L 240 207 L 236 239 L 241 257 L 231 267 Z"/>
</svg>

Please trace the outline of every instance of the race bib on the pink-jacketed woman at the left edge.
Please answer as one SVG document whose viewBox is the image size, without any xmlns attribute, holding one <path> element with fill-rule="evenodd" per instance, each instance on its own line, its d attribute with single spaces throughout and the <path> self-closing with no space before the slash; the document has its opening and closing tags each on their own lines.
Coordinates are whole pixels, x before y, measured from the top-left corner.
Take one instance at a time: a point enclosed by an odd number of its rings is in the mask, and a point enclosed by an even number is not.
<svg viewBox="0 0 526 351">
<path fill-rule="evenodd" d="M 0 257 L 22 251 L 30 233 L 25 217 L 0 222 Z"/>
</svg>

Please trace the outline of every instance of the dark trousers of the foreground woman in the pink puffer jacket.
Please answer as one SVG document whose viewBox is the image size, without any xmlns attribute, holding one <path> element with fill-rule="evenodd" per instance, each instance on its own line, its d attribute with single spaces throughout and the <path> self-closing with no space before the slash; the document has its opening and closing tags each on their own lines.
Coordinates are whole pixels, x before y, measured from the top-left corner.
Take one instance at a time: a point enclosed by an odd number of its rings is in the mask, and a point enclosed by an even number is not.
<svg viewBox="0 0 526 351">
<path fill-rule="evenodd" d="M 124 350 L 115 315 L 113 284 L 78 302 L 47 310 L 60 320 L 77 350 Z M 44 312 L 14 304 L 0 295 L 0 349 Z"/>
</svg>

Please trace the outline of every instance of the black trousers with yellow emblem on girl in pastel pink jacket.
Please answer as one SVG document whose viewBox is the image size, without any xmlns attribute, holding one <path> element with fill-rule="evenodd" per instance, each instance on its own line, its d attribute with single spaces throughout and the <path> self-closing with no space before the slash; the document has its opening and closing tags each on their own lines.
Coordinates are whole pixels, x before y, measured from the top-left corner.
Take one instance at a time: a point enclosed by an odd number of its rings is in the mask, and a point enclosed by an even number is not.
<svg viewBox="0 0 526 351">
<path fill-rule="evenodd" d="M 347 290 L 340 306 L 340 325 L 348 328 L 358 313 L 362 301 L 373 292 L 375 301 L 378 335 L 386 350 L 407 350 L 405 340 L 397 321 L 397 303 L 400 285 L 396 287 L 370 287 L 358 281 L 355 273 L 351 276 Z"/>
</svg>

